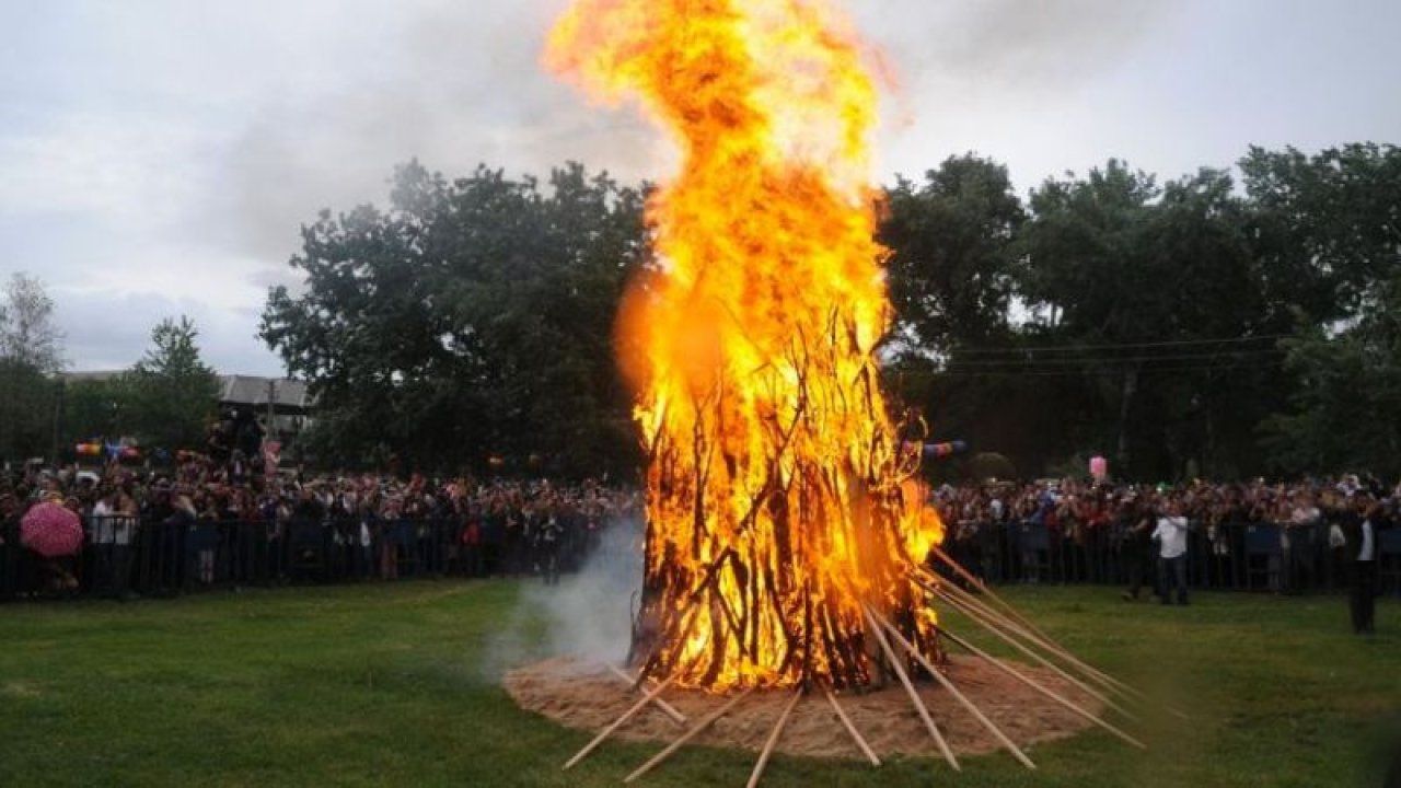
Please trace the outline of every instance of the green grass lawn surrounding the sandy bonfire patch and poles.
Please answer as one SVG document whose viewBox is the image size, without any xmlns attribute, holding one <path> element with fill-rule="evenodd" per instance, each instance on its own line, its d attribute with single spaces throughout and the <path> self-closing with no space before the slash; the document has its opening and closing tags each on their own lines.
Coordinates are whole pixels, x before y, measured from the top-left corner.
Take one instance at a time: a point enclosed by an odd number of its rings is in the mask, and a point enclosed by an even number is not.
<svg viewBox="0 0 1401 788">
<path fill-rule="evenodd" d="M 657 746 L 523 712 L 497 677 L 539 656 L 542 618 L 506 580 L 0 606 L 0 785 L 614 785 Z M 1147 753 L 1089 732 L 1006 754 L 887 763 L 776 757 L 779 785 L 1356 785 L 1401 711 L 1401 604 L 1351 635 L 1346 600 L 1112 589 L 1006 595 L 1082 656 L 1191 714 Z M 958 625 L 957 620 L 950 620 Z M 502 637 L 510 630 L 511 637 Z M 960 627 L 967 631 L 967 625 Z M 930 747 L 933 754 L 933 747 Z M 752 756 L 679 753 L 643 785 L 743 785 Z"/>
</svg>

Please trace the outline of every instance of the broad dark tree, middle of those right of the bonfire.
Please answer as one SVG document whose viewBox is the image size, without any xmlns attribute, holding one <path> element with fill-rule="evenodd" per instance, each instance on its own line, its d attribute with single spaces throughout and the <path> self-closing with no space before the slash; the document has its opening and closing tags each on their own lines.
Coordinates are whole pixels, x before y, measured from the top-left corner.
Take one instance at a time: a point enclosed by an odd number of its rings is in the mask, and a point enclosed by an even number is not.
<svg viewBox="0 0 1401 788">
<path fill-rule="evenodd" d="M 1021 293 L 1037 349 L 969 363 L 1045 376 L 1062 443 L 1104 450 L 1129 475 L 1258 468 L 1254 429 L 1282 402 L 1274 341 L 1289 324 L 1230 175 L 1157 186 L 1111 160 L 1048 181 L 1031 208 Z"/>
</svg>

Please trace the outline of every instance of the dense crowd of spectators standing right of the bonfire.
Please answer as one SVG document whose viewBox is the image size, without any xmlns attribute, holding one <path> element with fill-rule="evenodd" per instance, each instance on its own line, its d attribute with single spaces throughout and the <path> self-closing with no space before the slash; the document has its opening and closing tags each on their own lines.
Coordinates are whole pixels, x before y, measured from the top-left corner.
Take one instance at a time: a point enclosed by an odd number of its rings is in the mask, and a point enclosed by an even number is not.
<svg viewBox="0 0 1401 788">
<path fill-rule="evenodd" d="M 1181 485 L 1045 480 L 946 485 L 933 499 L 948 529 L 947 552 L 992 582 L 1124 583 L 1128 600 L 1152 590 L 1178 604 L 1187 604 L 1188 585 L 1281 593 L 1346 586 L 1358 595 L 1355 627 L 1366 631 L 1379 566 L 1401 568 L 1401 530 L 1394 529 L 1401 485 L 1372 477 Z"/>
</svg>

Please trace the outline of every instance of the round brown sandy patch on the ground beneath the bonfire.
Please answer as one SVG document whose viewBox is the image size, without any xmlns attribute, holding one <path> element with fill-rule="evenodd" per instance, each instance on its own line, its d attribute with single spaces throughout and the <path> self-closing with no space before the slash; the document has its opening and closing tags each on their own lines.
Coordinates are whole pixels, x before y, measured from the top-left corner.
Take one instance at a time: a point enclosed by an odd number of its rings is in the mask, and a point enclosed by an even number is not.
<svg viewBox="0 0 1401 788">
<path fill-rule="evenodd" d="M 1103 711 L 1093 697 L 1055 673 L 1016 665 L 1024 676 L 1096 715 Z M 1017 746 L 1062 739 L 1091 724 L 1027 687 L 1014 677 L 971 658 L 954 658 L 947 676 Z M 622 716 L 639 695 L 604 666 L 569 658 L 528 665 L 506 674 L 506 690 L 521 708 L 542 714 L 569 728 L 601 731 Z M 958 701 L 933 684 L 916 684 L 930 716 L 957 754 L 991 753 L 999 747 L 992 733 Z M 692 722 L 715 711 L 726 698 L 708 693 L 667 690 L 667 702 Z M 751 693 L 692 743 L 715 747 L 759 750 L 792 698 L 787 691 Z M 843 693 L 842 708 L 857 731 L 881 757 L 891 754 L 939 757 L 939 750 L 920 722 L 915 707 L 897 681 L 863 693 Z M 649 705 L 628 721 L 615 736 L 630 740 L 671 742 L 686 726 Z M 778 749 L 789 754 L 815 757 L 862 757 L 850 735 L 822 694 L 799 702 L 783 731 Z"/>
</svg>

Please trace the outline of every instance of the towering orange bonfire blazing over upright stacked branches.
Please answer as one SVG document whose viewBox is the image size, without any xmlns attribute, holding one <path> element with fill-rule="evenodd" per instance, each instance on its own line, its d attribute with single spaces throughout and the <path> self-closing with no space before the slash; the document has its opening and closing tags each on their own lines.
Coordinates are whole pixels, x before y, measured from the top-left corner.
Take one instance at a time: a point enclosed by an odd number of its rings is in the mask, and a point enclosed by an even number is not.
<svg viewBox="0 0 1401 788">
<path fill-rule="evenodd" d="M 863 604 L 936 653 L 943 538 L 880 391 L 877 84 L 801 0 L 577 0 L 546 64 L 667 129 L 657 272 L 619 318 L 649 451 L 635 659 L 708 690 L 870 680 Z"/>
</svg>

